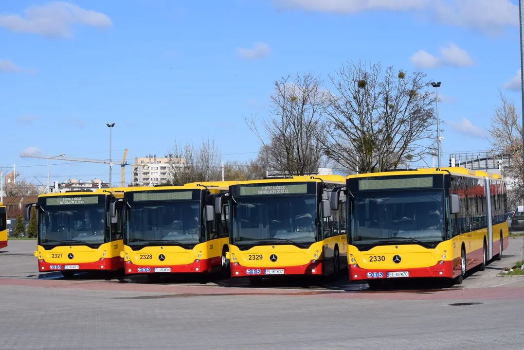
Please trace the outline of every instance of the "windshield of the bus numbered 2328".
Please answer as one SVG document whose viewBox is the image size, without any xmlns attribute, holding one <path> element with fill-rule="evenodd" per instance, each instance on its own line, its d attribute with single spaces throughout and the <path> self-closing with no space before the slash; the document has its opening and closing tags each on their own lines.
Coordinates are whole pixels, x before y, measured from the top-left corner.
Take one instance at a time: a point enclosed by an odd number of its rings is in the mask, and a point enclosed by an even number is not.
<svg viewBox="0 0 524 350">
<path fill-rule="evenodd" d="M 125 243 L 129 246 L 197 244 L 200 201 L 133 202 L 126 208 Z"/>
</svg>

